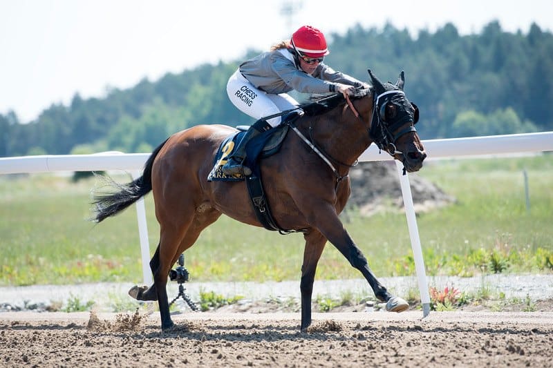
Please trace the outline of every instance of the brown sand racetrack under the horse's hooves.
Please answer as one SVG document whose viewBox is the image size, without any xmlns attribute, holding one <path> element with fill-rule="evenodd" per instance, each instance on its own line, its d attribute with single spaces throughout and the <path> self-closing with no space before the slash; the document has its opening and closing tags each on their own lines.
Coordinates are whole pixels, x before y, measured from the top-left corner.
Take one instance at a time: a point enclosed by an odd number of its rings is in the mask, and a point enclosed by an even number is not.
<svg viewBox="0 0 553 368">
<path fill-rule="evenodd" d="M 553 312 L 0 313 L 0 366 L 553 367 Z"/>
</svg>

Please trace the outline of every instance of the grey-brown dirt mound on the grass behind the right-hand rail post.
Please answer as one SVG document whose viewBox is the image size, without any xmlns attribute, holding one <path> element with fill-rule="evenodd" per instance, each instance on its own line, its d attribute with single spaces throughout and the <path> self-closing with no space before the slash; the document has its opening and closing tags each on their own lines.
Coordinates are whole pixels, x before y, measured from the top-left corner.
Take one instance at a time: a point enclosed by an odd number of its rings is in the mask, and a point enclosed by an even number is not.
<svg viewBox="0 0 553 368">
<path fill-rule="evenodd" d="M 394 162 L 361 162 L 351 168 L 351 196 L 346 209 L 359 209 L 370 216 L 379 211 L 403 208 L 402 189 Z M 435 184 L 409 175 L 415 211 L 430 211 L 456 201 Z"/>
</svg>

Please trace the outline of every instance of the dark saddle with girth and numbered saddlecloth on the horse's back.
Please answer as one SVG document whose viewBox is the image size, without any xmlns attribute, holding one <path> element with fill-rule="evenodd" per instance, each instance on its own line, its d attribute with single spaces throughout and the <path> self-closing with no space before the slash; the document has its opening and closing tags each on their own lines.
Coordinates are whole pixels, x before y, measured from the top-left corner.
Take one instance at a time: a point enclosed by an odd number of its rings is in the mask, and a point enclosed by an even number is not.
<svg viewBox="0 0 553 368">
<path fill-rule="evenodd" d="M 223 173 L 222 169 L 225 162 L 227 162 L 226 158 L 232 155 L 232 151 L 234 151 L 234 147 L 236 147 L 236 142 L 240 142 L 240 139 L 242 139 L 242 136 L 250 127 L 237 126 L 236 128 L 239 131 L 230 135 L 221 143 L 215 155 L 212 171 L 207 175 L 207 181 L 239 182 L 245 180 L 257 220 L 263 224 L 263 227 L 271 231 L 279 231 L 281 234 L 294 232 L 294 230 L 281 229 L 274 221 L 265 197 L 265 192 L 263 191 L 261 167 L 259 165 L 260 159 L 270 157 L 279 152 L 290 126 L 285 123 L 280 124 L 275 128 L 265 130 L 265 132 L 252 138 L 250 142 L 247 142 L 245 165 L 252 169 L 252 175 L 247 176 L 242 174 L 226 175 Z"/>
</svg>

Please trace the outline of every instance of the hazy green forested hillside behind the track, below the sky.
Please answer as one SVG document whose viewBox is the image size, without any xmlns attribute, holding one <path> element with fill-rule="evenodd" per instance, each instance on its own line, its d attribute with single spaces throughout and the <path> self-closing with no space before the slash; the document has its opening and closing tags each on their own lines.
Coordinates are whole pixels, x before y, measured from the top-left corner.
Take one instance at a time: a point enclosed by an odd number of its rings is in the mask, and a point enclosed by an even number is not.
<svg viewBox="0 0 553 368">
<path fill-rule="evenodd" d="M 422 139 L 553 130 L 553 37 L 535 23 L 524 34 L 493 21 L 472 35 L 459 35 L 447 23 L 416 37 L 390 24 L 381 30 L 356 25 L 328 41 L 325 62 L 357 79 L 368 81 L 370 68 L 395 82 L 405 71 L 406 95 L 420 108 Z M 251 124 L 226 95 L 240 62 L 143 79 L 105 97 L 75 94 L 71 104 L 53 104 L 33 122 L 20 122 L 10 111 L 0 115 L 0 156 L 149 152 L 197 124 Z"/>
</svg>

